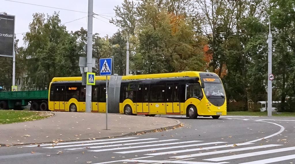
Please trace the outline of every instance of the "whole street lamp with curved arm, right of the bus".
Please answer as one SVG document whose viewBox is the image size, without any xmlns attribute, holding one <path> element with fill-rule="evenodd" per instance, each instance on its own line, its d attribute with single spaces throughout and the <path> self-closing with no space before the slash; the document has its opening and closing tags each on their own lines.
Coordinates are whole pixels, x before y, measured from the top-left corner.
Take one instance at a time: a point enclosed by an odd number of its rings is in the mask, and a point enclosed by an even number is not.
<svg viewBox="0 0 295 164">
<path fill-rule="evenodd" d="M 262 10 L 263 12 L 265 12 L 265 14 L 268 17 L 268 25 L 269 25 L 269 32 L 268 32 L 268 83 L 267 83 L 267 116 L 271 117 L 271 111 L 272 111 L 272 80 L 273 80 L 273 74 L 271 73 L 271 57 L 272 57 L 272 34 L 271 34 L 271 20 L 269 19 L 269 15 L 267 14 L 266 11 L 264 11 L 263 9 L 261 9 L 260 7 L 258 7 L 256 4 L 254 3 L 250 3 L 254 6 L 256 6 L 258 9 Z"/>
</svg>

